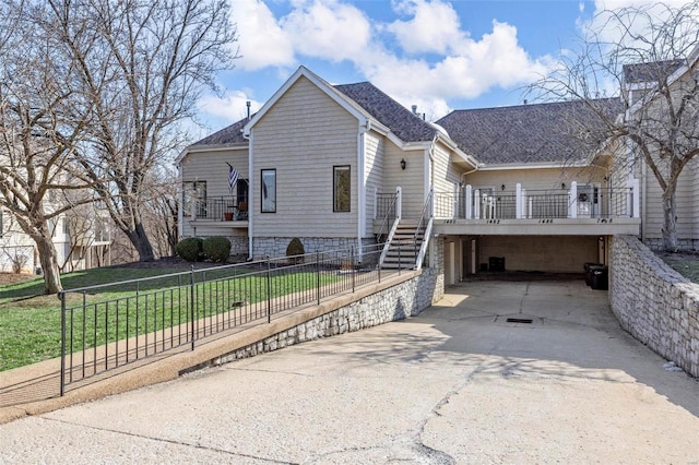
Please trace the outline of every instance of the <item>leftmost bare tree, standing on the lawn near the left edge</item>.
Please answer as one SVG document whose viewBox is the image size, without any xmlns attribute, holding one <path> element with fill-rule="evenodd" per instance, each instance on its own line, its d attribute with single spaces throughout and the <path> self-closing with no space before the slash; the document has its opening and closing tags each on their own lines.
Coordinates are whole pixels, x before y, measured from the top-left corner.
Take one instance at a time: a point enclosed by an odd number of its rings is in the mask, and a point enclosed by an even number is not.
<svg viewBox="0 0 699 465">
<path fill-rule="evenodd" d="M 36 10 L 2 3 L 0 29 L 0 205 L 36 245 L 45 291 L 62 289 L 50 220 L 92 202 L 92 186 L 75 155 L 92 108 L 71 86 L 72 62 L 56 52 L 55 36 L 34 21 Z M 64 193 L 72 195 L 67 202 Z"/>
</svg>

